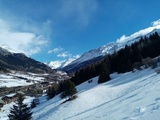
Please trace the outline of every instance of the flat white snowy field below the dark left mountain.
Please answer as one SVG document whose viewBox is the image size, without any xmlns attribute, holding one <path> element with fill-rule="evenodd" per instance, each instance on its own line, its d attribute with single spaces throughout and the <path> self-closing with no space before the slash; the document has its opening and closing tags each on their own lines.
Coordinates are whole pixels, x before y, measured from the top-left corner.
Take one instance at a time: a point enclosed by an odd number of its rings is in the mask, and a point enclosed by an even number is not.
<svg viewBox="0 0 160 120">
<path fill-rule="evenodd" d="M 40 77 L 39 74 L 23 72 L 0 74 L 0 87 L 27 86 L 40 81 L 44 81 L 44 77 Z"/>
</svg>

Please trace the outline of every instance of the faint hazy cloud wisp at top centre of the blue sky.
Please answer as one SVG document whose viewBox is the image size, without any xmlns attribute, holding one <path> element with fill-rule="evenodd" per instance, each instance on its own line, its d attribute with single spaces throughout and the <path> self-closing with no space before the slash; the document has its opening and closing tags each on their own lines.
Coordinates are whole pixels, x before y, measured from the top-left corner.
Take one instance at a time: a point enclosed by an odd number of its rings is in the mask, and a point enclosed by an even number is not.
<svg viewBox="0 0 160 120">
<path fill-rule="evenodd" d="M 96 0 L 64 0 L 60 4 L 57 14 L 62 20 L 72 19 L 82 27 L 88 25 L 98 8 Z"/>
</svg>

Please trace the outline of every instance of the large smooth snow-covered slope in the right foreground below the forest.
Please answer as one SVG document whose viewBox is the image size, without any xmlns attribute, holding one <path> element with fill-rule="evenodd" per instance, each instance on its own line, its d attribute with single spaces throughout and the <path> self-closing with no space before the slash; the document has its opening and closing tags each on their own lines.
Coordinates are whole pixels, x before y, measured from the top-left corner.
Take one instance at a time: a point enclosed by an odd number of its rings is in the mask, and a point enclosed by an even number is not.
<svg viewBox="0 0 160 120">
<path fill-rule="evenodd" d="M 59 96 L 33 109 L 34 120 L 159 120 L 160 74 L 155 70 L 112 74 L 111 81 L 77 86 L 78 98 Z"/>
</svg>

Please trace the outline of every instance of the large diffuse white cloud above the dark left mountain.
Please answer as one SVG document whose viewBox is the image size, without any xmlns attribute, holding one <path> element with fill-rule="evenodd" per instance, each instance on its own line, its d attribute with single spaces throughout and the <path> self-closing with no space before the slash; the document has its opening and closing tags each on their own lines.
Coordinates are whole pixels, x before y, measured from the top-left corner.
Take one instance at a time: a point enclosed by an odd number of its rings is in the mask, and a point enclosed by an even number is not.
<svg viewBox="0 0 160 120">
<path fill-rule="evenodd" d="M 42 35 L 31 32 L 19 32 L 10 27 L 7 21 L 0 19 L 0 46 L 6 45 L 17 52 L 26 55 L 38 53 L 47 40 Z"/>
</svg>

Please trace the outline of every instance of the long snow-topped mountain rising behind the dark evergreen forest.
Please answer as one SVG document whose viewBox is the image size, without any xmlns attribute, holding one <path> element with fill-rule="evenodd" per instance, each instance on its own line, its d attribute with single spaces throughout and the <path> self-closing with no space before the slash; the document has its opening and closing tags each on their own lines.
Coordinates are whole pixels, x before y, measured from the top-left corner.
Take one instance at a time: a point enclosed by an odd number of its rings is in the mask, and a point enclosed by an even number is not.
<svg viewBox="0 0 160 120">
<path fill-rule="evenodd" d="M 92 63 L 102 60 L 106 55 L 112 54 L 115 51 L 118 51 L 124 48 L 126 45 L 131 45 L 136 41 L 139 41 L 141 37 L 144 37 L 144 36 L 149 37 L 151 34 L 155 32 L 160 34 L 160 25 L 156 25 L 156 26 L 152 26 L 152 27 L 140 30 L 128 37 L 123 35 L 116 42 L 109 43 L 100 48 L 93 49 L 84 53 L 78 59 L 74 60 L 67 66 L 62 67 L 61 69 L 66 71 L 67 73 L 74 73 L 75 71 L 79 70 L 82 67 L 85 67 L 87 65 L 90 65 Z"/>
</svg>

